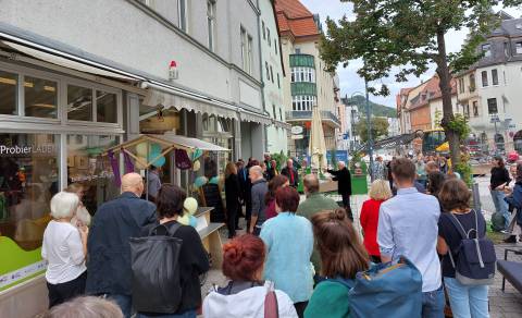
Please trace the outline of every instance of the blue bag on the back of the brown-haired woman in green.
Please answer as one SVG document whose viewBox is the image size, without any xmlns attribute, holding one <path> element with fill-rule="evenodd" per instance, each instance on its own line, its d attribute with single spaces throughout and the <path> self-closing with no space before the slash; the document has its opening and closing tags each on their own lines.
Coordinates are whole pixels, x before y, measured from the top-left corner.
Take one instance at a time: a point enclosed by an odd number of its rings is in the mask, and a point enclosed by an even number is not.
<svg viewBox="0 0 522 318">
<path fill-rule="evenodd" d="M 355 280 L 326 279 L 348 289 L 351 318 L 420 318 L 422 276 L 401 256 L 398 262 L 378 264 L 358 272 Z"/>
</svg>

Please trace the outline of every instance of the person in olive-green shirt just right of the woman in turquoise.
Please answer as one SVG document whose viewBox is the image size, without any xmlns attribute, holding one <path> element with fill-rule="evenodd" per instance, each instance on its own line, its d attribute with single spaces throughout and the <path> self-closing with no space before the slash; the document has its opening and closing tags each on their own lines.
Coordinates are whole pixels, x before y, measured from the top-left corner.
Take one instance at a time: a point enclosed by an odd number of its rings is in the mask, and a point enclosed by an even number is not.
<svg viewBox="0 0 522 318">
<path fill-rule="evenodd" d="M 313 216 L 318 212 L 336 210 L 339 208 L 339 205 L 335 200 L 319 193 L 319 179 L 316 174 L 311 173 L 304 175 L 303 184 L 307 199 L 299 204 L 296 212 L 298 216 L 302 216 L 311 221 Z M 319 252 L 315 246 L 313 248 L 311 261 L 315 271 L 313 279 L 315 282 L 319 282 L 321 280 L 321 258 L 319 257 Z"/>
</svg>

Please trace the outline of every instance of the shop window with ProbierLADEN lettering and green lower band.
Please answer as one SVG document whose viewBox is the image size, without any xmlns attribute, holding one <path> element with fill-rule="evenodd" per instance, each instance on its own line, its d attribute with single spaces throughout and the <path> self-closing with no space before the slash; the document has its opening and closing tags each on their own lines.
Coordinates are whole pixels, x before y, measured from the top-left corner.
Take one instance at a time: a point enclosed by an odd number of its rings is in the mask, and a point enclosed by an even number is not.
<svg viewBox="0 0 522 318">
<path fill-rule="evenodd" d="M 0 277 L 8 274 L 0 290 L 45 270 L 40 253 L 34 252 L 51 220 L 49 201 L 60 188 L 59 140 L 52 134 L 0 134 L 0 242 L 15 244 L 9 257 L 17 261 L 7 271 L 0 267 Z"/>
</svg>

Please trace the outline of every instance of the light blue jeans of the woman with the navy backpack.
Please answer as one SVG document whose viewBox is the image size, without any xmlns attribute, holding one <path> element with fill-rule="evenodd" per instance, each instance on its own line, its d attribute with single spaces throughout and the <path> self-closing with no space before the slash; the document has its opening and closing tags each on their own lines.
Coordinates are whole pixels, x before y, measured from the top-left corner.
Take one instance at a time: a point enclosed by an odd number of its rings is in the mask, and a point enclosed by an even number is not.
<svg viewBox="0 0 522 318">
<path fill-rule="evenodd" d="M 488 318 L 487 285 L 465 286 L 455 278 L 444 278 L 455 318 Z"/>
</svg>

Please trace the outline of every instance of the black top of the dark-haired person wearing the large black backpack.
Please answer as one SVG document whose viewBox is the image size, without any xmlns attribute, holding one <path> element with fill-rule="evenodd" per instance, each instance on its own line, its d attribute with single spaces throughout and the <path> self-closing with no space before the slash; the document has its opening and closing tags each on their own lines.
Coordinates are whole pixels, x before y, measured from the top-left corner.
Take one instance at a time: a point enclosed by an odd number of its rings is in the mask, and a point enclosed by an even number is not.
<svg viewBox="0 0 522 318">
<path fill-rule="evenodd" d="M 167 228 L 176 224 L 176 221 L 163 223 Z M 145 227 L 141 230 L 141 236 L 147 236 L 153 227 L 159 222 Z M 199 276 L 209 271 L 209 256 L 201 243 L 198 232 L 190 225 L 182 225 L 174 237 L 182 238 L 182 249 L 179 250 L 179 284 L 182 286 L 182 302 L 176 313 L 183 314 L 187 310 L 195 310 L 201 306 L 201 286 Z M 164 314 L 146 313 L 148 316 Z"/>
</svg>

